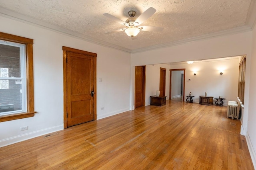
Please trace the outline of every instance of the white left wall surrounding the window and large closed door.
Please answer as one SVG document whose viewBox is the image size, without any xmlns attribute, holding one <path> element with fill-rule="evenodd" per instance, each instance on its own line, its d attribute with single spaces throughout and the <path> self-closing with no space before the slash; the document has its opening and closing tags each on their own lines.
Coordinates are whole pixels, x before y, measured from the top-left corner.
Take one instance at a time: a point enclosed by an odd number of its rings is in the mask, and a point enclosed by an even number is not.
<svg viewBox="0 0 256 170">
<path fill-rule="evenodd" d="M 0 147 L 63 129 L 62 46 L 97 53 L 97 118 L 128 111 L 130 53 L 0 16 L 0 31 L 34 39 L 34 117 L 0 122 Z M 99 82 L 102 78 L 102 82 Z M 101 110 L 104 107 L 104 110 Z M 28 126 L 27 131 L 20 127 Z"/>
</svg>

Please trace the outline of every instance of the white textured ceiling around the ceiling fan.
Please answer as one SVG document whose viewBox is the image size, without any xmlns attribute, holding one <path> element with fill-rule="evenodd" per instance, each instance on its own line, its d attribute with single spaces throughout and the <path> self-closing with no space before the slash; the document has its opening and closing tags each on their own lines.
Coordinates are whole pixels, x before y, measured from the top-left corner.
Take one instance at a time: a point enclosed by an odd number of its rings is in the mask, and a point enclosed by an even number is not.
<svg viewBox="0 0 256 170">
<path fill-rule="evenodd" d="M 0 15 L 134 53 L 251 30 L 255 4 L 255 0 L 0 0 Z M 138 17 L 149 7 L 156 13 L 142 25 L 164 27 L 162 32 L 140 31 L 135 39 L 124 31 L 106 34 L 124 25 L 104 13 L 125 21 L 128 11 L 136 11 Z"/>
</svg>

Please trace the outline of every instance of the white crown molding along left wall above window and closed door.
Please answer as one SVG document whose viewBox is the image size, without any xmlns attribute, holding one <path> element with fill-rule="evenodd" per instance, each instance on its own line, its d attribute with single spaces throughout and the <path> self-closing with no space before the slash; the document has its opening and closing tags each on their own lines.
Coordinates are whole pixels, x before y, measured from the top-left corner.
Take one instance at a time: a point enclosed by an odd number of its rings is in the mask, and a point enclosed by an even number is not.
<svg viewBox="0 0 256 170">
<path fill-rule="evenodd" d="M 28 23 L 30 25 L 35 25 L 35 26 L 39 26 L 39 27 L 42 27 L 42 28 L 50 29 L 51 31 L 61 33 L 61 34 L 64 34 L 64 35 L 68 35 L 68 36 L 71 36 L 71 37 L 75 37 L 75 38 L 78 38 L 78 39 L 82 39 L 82 40 L 88 41 L 90 43 L 94 43 L 94 44 L 97 44 L 97 45 L 102 45 L 102 46 L 105 46 L 105 47 L 110 47 L 112 49 L 118 49 L 118 50 L 121 50 L 121 51 L 131 53 L 130 49 L 127 49 L 127 48 L 124 48 L 124 47 L 121 47 L 121 46 L 118 46 L 118 45 L 114 45 L 114 44 L 102 41 L 100 39 L 92 38 L 88 35 L 84 35 L 84 34 L 76 32 L 76 31 L 72 31 L 70 29 L 66 29 L 66 28 L 54 25 L 52 23 L 47 23 L 45 21 L 38 20 L 38 19 L 32 18 L 30 16 L 19 14 L 15 11 L 7 10 L 6 8 L 0 7 L 0 15 L 4 16 L 6 18 L 21 21 L 23 23 Z"/>
</svg>

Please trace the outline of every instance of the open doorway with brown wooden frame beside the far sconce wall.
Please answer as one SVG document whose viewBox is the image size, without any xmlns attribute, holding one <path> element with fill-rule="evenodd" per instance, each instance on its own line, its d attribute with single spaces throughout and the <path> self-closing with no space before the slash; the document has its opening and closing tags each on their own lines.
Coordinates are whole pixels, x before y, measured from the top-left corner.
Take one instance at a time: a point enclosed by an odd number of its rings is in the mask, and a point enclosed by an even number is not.
<svg viewBox="0 0 256 170">
<path fill-rule="evenodd" d="M 184 101 L 185 68 L 170 69 L 170 100 Z"/>
</svg>

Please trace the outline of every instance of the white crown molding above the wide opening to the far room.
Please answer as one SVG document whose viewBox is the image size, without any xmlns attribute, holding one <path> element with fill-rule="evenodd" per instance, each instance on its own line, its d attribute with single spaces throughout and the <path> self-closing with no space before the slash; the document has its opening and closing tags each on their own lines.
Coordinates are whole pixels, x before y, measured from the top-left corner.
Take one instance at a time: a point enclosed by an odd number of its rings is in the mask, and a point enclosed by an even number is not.
<svg viewBox="0 0 256 170">
<path fill-rule="evenodd" d="M 170 42 L 170 43 L 165 43 L 165 44 L 160 44 L 160 45 L 153 45 L 153 46 L 150 46 L 150 47 L 135 49 L 135 50 L 132 50 L 132 54 L 140 53 L 140 52 L 144 52 L 144 51 L 150 51 L 150 50 L 154 50 L 154 49 L 172 47 L 172 46 L 175 46 L 175 45 L 182 45 L 182 44 L 191 43 L 191 42 L 195 42 L 195 41 L 201 41 L 203 39 L 211 39 L 213 37 L 221 37 L 223 35 L 232 35 L 232 34 L 236 34 L 236 33 L 242 33 L 242 32 L 246 32 L 246 31 L 252 31 L 252 28 L 248 25 L 245 25 L 245 26 L 236 27 L 236 28 L 232 28 L 232 29 L 226 29 L 226 30 L 223 30 L 223 31 L 218 31 L 218 32 L 215 32 L 215 33 L 209 33 L 209 34 L 205 34 L 205 35 L 201 35 L 201 36 L 197 36 L 197 37 L 192 37 L 192 38 L 188 38 L 188 39 L 182 39 L 182 40 L 174 41 L 174 42 Z"/>
</svg>

